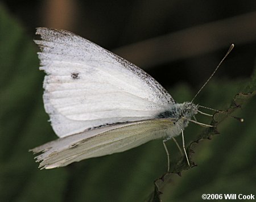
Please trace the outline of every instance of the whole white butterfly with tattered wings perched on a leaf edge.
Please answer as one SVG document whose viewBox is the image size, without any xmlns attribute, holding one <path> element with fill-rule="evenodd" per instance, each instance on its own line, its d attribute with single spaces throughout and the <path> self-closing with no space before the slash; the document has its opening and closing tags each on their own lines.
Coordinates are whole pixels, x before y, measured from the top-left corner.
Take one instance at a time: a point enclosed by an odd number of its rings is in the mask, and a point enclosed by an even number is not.
<svg viewBox="0 0 256 202">
<path fill-rule="evenodd" d="M 42 152 L 35 157 L 39 167 L 123 152 L 156 138 L 164 144 L 180 133 L 185 152 L 183 130 L 189 121 L 197 123 L 191 119 L 203 113 L 198 105 L 176 103 L 142 69 L 74 33 L 37 28 L 36 34 L 42 38 L 35 40 L 42 50 L 40 70 L 47 74 L 44 108 L 59 136 L 32 149 Z M 168 158 L 168 170 L 169 164 Z"/>
</svg>

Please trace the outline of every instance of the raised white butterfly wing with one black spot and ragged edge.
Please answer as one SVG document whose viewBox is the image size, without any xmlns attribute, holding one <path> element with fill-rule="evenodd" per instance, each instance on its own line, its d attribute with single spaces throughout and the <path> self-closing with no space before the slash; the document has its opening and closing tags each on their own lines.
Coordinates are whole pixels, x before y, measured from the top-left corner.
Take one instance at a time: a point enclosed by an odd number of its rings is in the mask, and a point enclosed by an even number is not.
<svg viewBox="0 0 256 202">
<path fill-rule="evenodd" d="M 38 28 L 44 107 L 59 137 L 154 119 L 175 103 L 142 69 L 71 32 Z"/>
</svg>

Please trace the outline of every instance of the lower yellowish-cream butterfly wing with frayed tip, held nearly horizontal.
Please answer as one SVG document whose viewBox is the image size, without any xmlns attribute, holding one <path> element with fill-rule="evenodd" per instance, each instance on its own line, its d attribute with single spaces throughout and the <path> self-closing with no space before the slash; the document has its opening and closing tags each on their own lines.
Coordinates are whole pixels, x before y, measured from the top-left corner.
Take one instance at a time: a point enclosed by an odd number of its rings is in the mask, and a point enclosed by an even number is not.
<svg viewBox="0 0 256 202">
<path fill-rule="evenodd" d="M 152 119 L 94 128 L 48 142 L 32 152 L 45 169 L 66 166 L 82 159 L 123 152 L 145 142 L 176 133 L 171 119 Z"/>
</svg>

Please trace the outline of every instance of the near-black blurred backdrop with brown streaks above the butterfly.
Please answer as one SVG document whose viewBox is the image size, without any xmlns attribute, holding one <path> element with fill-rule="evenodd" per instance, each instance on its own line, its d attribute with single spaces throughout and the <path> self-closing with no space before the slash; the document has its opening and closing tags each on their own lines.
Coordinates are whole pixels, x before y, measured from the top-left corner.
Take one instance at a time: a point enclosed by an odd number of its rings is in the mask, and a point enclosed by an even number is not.
<svg viewBox="0 0 256 202">
<path fill-rule="evenodd" d="M 3 1 L 34 37 L 35 27 L 77 33 L 143 68 L 164 87 L 199 87 L 229 45 L 218 77 L 251 75 L 255 1 Z"/>
</svg>

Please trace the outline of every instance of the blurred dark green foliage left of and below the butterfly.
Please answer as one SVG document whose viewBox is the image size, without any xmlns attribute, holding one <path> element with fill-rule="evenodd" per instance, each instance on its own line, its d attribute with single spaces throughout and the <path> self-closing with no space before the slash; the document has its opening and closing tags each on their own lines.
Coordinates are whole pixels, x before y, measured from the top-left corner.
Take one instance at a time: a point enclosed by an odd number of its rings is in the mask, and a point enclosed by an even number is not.
<svg viewBox="0 0 256 202">
<path fill-rule="evenodd" d="M 39 170 L 28 149 L 56 138 L 42 102 L 44 73 L 38 70 L 36 47 L 26 31 L 0 7 L 0 201 L 143 201 L 154 191 L 154 180 L 166 171 L 162 141 L 148 142 L 127 152 L 88 159 L 53 170 Z M 200 104 L 226 110 L 238 92 L 255 90 L 255 74 L 237 81 L 215 78 L 205 87 Z M 246 87 L 244 90 L 244 87 Z M 170 89 L 177 102 L 191 100 L 185 83 Z M 203 193 L 255 194 L 255 97 L 218 125 L 221 135 L 193 144 L 198 165 L 157 181 L 163 201 L 199 201 Z M 198 117 L 203 123 L 210 118 Z M 189 124 L 187 145 L 203 129 Z M 177 138 L 181 139 L 181 137 Z M 178 140 L 179 143 L 181 140 Z M 171 168 L 180 154 L 167 142 Z M 161 185 L 162 184 L 162 185 Z M 157 197 L 156 197 L 157 199 Z"/>
</svg>

